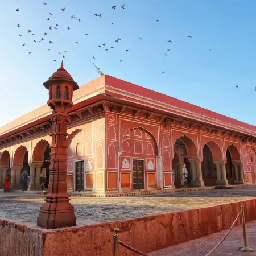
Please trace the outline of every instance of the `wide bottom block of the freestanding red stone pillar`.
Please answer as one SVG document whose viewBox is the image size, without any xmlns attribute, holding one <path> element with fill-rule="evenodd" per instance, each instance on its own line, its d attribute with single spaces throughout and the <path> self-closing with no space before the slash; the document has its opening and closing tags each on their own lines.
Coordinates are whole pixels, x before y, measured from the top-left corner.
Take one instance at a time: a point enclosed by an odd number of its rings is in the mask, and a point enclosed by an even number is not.
<svg viewBox="0 0 256 256">
<path fill-rule="evenodd" d="M 76 216 L 74 212 L 40 212 L 37 225 L 45 229 L 76 226 Z"/>
</svg>

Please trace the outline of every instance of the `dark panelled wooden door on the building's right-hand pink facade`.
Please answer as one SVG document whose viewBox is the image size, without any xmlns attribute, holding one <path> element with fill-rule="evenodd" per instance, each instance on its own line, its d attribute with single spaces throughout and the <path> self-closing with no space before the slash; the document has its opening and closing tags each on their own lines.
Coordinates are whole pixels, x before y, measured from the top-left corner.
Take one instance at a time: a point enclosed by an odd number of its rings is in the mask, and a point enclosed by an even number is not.
<svg viewBox="0 0 256 256">
<path fill-rule="evenodd" d="M 133 189 L 144 189 L 144 162 L 133 159 Z"/>
</svg>

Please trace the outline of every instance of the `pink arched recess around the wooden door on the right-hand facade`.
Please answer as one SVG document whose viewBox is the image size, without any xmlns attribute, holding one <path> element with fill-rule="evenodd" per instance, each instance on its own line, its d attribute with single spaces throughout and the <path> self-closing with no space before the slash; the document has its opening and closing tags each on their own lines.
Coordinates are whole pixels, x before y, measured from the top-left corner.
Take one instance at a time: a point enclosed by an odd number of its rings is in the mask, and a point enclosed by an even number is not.
<svg viewBox="0 0 256 256">
<path fill-rule="evenodd" d="M 119 161 L 122 191 L 156 189 L 158 186 L 156 156 L 158 146 L 154 136 L 143 127 L 134 127 L 122 137 Z M 163 166 L 171 171 L 170 152 L 166 151 Z"/>
</svg>

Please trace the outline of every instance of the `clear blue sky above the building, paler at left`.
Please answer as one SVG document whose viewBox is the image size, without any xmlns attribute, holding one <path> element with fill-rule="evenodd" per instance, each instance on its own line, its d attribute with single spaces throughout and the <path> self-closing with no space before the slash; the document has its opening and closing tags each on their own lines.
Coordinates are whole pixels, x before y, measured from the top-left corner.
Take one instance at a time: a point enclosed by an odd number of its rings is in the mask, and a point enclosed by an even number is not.
<svg viewBox="0 0 256 256">
<path fill-rule="evenodd" d="M 255 11 L 246 0 L 0 0 L 0 126 L 46 104 L 61 60 L 79 86 L 100 76 L 95 63 L 256 126 Z"/>
</svg>

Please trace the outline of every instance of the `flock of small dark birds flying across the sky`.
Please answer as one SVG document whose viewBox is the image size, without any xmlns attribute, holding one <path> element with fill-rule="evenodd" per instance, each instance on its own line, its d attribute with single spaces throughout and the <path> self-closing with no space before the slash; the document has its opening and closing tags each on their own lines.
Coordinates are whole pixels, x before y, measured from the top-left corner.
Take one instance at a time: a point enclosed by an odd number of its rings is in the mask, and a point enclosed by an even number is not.
<svg viewBox="0 0 256 256">
<path fill-rule="evenodd" d="M 46 3 L 46 2 L 43 2 L 43 5 L 47 5 L 47 3 Z M 118 8 L 118 7 L 115 6 L 115 5 L 112 5 L 111 7 L 112 7 L 113 10 L 115 10 L 115 9 Z M 125 4 L 119 6 L 119 8 L 125 9 Z M 63 12 L 65 12 L 66 8 L 63 7 L 63 8 L 60 8 L 60 10 L 63 11 Z M 20 9 L 17 8 L 17 9 L 16 9 L 16 12 L 20 12 Z M 102 18 L 102 13 L 96 13 L 96 14 L 94 14 L 94 15 L 95 15 L 96 17 L 98 17 L 98 18 Z M 51 21 L 51 19 L 53 18 L 53 16 L 54 16 L 53 13 L 49 13 L 49 15 L 47 16 L 46 20 Z M 81 19 L 80 19 L 80 18 L 77 18 L 77 16 L 75 16 L 75 15 L 72 15 L 71 18 L 77 20 L 78 22 L 81 22 Z M 159 20 L 159 19 L 156 19 L 156 22 L 160 22 L 160 20 Z M 111 22 L 111 24 L 113 25 L 114 23 Z M 18 23 L 18 24 L 16 24 L 16 27 L 21 28 L 22 25 L 21 25 L 20 23 Z M 59 24 L 57 24 L 57 23 L 55 23 L 55 25 L 51 24 L 51 25 L 48 26 L 48 31 L 54 31 L 54 30 L 58 30 L 58 29 L 59 29 Z M 65 29 L 66 29 L 66 30 L 71 30 L 71 27 L 70 27 L 70 26 L 67 26 Z M 32 36 L 35 36 L 34 32 L 32 32 L 31 29 L 27 29 L 27 34 L 30 34 L 30 35 L 32 35 Z M 51 50 L 52 50 L 52 49 L 51 49 L 51 46 L 52 46 L 52 44 L 54 44 L 54 43 L 53 43 L 53 39 L 47 39 L 48 34 L 49 34 L 49 32 L 45 31 L 45 32 L 43 32 L 42 35 L 40 35 L 40 39 L 39 39 L 39 40 L 35 40 L 34 38 L 33 38 L 32 40 L 33 40 L 34 43 L 48 42 L 48 47 L 47 47 L 47 49 L 48 49 L 48 51 L 51 51 Z M 88 36 L 89 34 L 88 34 L 88 32 L 84 32 L 84 35 L 85 35 L 85 36 Z M 19 37 L 22 38 L 22 36 L 23 36 L 23 35 L 22 35 L 22 32 L 20 32 L 20 33 L 19 33 Z M 188 38 L 188 39 L 192 39 L 192 36 L 191 36 L 191 35 L 188 35 L 187 38 Z M 143 40 L 141 36 L 138 36 L 138 39 L 139 39 L 139 40 Z M 113 40 L 113 45 L 115 45 L 115 44 L 118 45 L 121 41 L 122 41 L 121 38 L 117 38 L 117 39 Z M 79 44 L 78 41 L 75 41 L 75 43 L 76 43 L 76 44 Z M 170 46 L 171 46 L 171 44 L 172 44 L 172 41 L 171 41 L 171 40 L 168 40 L 168 41 L 167 41 L 167 44 L 168 44 L 167 52 L 169 52 L 169 51 L 171 51 Z M 104 49 L 105 49 L 105 52 L 108 52 L 108 51 L 114 49 L 114 47 L 115 47 L 115 46 L 113 46 L 113 45 L 110 46 L 110 47 L 107 47 L 106 45 L 107 45 L 106 43 L 98 44 L 98 48 L 104 48 Z M 26 46 L 27 46 L 27 43 L 23 43 L 22 46 L 23 46 L 23 47 L 26 47 Z M 208 48 L 207 50 L 208 50 L 209 52 L 212 52 L 212 49 L 211 49 L 211 48 Z M 62 55 L 62 58 L 65 59 L 65 53 L 66 53 L 66 52 L 67 52 L 67 50 L 64 50 L 63 52 L 58 51 L 57 54 L 60 55 L 60 56 Z M 125 49 L 125 52 L 129 52 L 129 49 Z M 163 52 L 165 56 L 167 56 L 167 52 Z M 29 51 L 28 51 L 28 55 L 30 55 L 31 53 L 32 53 L 32 50 L 29 50 Z M 57 58 L 56 58 L 56 59 L 57 59 Z M 56 62 L 56 61 L 57 61 L 56 59 L 53 59 L 53 61 Z M 92 59 L 96 59 L 96 57 L 95 57 L 94 55 L 92 55 Z M 123 60 L 121 59 L 121 60 L 119 60 L 119 61 L 122 62 Z M 103 75 L 103 73 L 101 72 L 100 68 L 98 68 L 94 63 L 93 63 L 93 65 L 96 67 L 96 71 L 97 71 L 98 73 L 100 73 L 100 75 Z M 160 73 L 164 74 L 164 73 L 165 73 L 165 70 L 163 70 L 163 71 L 160 72 Z M 236 85 L 236 88 L 238 89 L 238 84 Z M 254 88 L 254 90 L 256 91 L 256 87 Z"/>
</svg>

